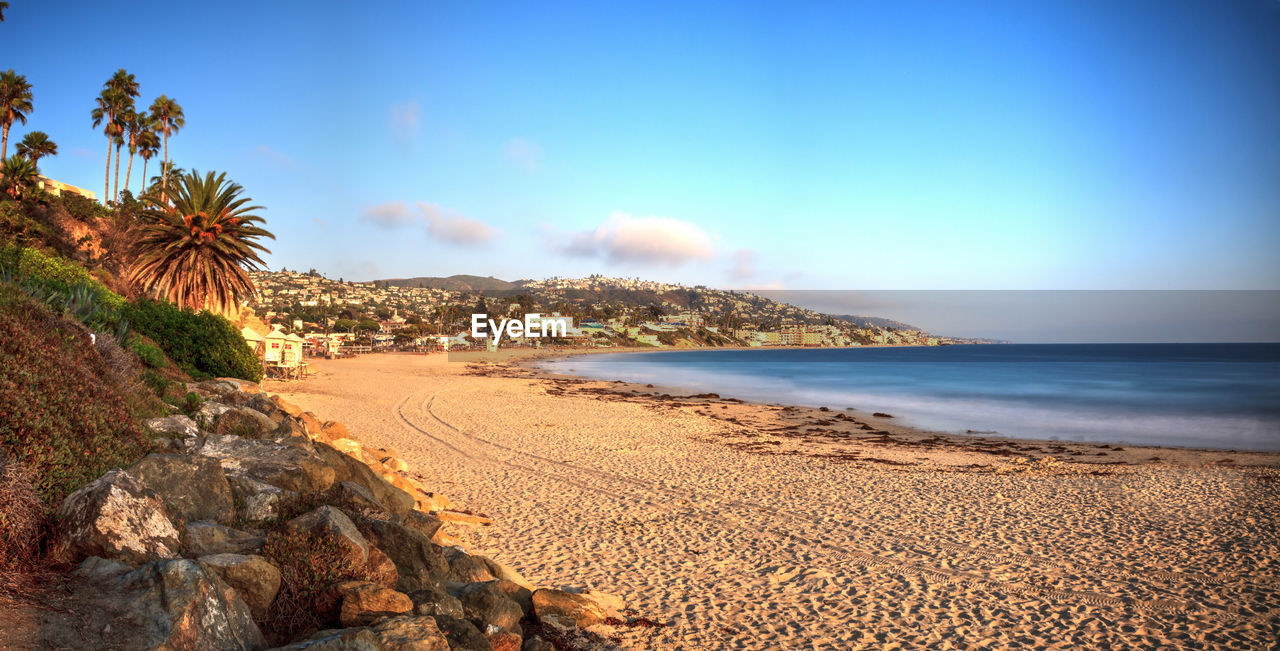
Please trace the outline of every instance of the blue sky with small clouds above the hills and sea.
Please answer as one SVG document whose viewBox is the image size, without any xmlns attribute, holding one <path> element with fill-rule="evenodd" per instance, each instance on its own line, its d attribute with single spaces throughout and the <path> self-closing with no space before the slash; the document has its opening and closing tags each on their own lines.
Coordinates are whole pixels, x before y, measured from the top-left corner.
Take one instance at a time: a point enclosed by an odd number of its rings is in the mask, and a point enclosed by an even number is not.
<svg viewBox="0 0 1280 651">
<path fill-rule="evenodd" d="M 12 5 L 10 139 L 100 192 L 127 68 L 273 269 L 1280 288 L 1275 0 Z"/>
</svg>

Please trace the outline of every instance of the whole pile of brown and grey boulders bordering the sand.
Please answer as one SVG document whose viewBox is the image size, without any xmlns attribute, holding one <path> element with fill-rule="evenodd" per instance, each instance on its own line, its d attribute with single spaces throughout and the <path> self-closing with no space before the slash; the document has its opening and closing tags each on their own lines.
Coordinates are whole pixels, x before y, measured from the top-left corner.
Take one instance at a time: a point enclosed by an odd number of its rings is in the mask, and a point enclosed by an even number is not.
<svg viewBox="0 0 1280 651">
<path fill-rule="evenodd" d="M 191 389 L 193 417 L 146 423 L 160 451 L 58 506 L 78 625 L 49 615 L 32 645 L 531 651 L 611 646 L 584 628 L 626 624 L 617 597 L 470 554 L 454 532 L 488 518 L 394 450 L 252 382 Z"/>
</svg>

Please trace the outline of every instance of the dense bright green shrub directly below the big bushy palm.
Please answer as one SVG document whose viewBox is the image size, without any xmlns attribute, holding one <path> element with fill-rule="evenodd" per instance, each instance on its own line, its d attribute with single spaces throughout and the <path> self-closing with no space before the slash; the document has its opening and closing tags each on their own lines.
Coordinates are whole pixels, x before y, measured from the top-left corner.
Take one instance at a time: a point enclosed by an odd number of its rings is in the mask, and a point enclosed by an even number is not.
<svg viewBox="0 0 1280 651">
<path fill-rule="evenodd" d="M 169 359 L 192 377 L 262 379 L 257 356 L 221 316 L 148 298 L 133 302 L 123 313 L 133 330 L 159 343 Z"/>
</svg>

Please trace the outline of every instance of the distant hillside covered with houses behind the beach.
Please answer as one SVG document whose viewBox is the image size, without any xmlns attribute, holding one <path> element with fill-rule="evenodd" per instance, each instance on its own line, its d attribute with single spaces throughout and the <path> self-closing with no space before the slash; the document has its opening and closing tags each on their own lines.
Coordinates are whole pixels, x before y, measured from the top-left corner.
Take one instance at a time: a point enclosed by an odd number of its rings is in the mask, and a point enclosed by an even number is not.
<svg viewBox="0 0 1280 651">
<path fill-rule="evenodd" d="M 268 327 L 301 336 L 308 347 L 477 347 L 471 315 L 524 318 L 567 316 L 576 347 L 851 347 L 945 345 L 973 340 L 936 336 L 906 324 L 832 316 L 749 292 L 685 286 L 640 279 L 589 276 L 518 280 L 503 289 L 445 289 L 449 283 L 366 283 L 307 271 L 251 274 L 257 297 L 247 307 Z M 448 280 L 448 279 L 435 279 Z M 494 279 L 490 279 L 494 280 Z M 500 281 L 499 281 L 500 283 Z M 544 340 L 545 341 L 545 340 Z M 504 345 L 535 345 L 516 338 Z"/>
</svg>

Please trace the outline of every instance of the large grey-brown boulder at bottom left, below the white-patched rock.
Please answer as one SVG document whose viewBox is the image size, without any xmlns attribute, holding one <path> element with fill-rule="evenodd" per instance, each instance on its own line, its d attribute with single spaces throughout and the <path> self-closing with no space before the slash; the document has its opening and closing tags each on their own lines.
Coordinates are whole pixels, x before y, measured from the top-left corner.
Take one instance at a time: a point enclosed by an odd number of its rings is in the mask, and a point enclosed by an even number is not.
<svg viewBox="0 0 1280 651">
<path fill-rule="evenodd" d="M 236 590 L 191 560 L 154 560 L 86 590 L 96 596 L 95 614 L 108 614 L 111 636 L 129 648 L 266 646 Z"/>
</svg>

